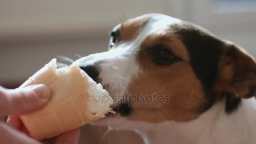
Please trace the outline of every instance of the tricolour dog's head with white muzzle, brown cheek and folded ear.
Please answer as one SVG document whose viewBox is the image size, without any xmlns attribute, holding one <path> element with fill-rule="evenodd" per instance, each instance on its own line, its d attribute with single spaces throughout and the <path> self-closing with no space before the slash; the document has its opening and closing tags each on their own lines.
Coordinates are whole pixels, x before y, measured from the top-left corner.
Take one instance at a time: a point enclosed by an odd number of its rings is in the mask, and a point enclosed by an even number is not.
<svg viewBox="0 0 256 144">
<path fill-rule="evenodd" d="M 236 45 L 162 14 L 117 25 L 109 51 L 75 61 L 114 99 L 128 120 L 189 121 L 226 99 L 227 113 L 255 94 L 256 64 Z M 125 99 L 121 99 L 125 98 Z"/>
</svg>

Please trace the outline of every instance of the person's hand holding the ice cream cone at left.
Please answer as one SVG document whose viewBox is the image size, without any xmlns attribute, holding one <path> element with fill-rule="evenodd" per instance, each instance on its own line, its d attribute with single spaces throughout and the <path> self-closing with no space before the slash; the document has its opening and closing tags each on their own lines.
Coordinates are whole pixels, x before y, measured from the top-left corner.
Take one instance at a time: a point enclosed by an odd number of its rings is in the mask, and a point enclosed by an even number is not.
<svg viewBox="0 0 256 144">
<path fill-rule="evenodd" d="M 45 85 L 32 85 L 27 88 L 6 89 L 0 87 L 0 117 L 9 115 L 7 125 L 0 122 L 0 143 L 8 144 L 76 144 L 80 131 L 75 129 L 55 138 L 36 141 L 29 133 L 19 115 L 42 107 L 49 99 L 50 90 Z"/>
</svg>

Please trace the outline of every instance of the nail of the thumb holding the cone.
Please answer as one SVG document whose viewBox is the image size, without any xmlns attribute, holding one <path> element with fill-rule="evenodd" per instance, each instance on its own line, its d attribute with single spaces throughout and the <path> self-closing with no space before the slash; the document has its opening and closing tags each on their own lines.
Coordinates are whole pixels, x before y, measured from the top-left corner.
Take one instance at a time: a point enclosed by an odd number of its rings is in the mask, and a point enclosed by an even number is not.
<svg viewBox="0 0 256 144">
<path fill-rule="evenodd" d="M 35 95 L 41 99 L 48 99 L 50 97 L 50 88 L 44 84 L 34 85 L 31 89 L 35 92 Z"/>
</svg>

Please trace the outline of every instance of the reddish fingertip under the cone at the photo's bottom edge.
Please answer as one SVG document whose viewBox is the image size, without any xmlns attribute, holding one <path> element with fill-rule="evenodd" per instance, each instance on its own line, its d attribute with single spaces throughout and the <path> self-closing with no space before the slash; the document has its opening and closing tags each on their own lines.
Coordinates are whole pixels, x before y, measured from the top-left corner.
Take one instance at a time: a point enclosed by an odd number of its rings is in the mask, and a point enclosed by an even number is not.
<svg viewBox="0 0 256 144">
<path fill-rule="evenodd" d="M 80 129 L 67 131 L 59 135 L 56 139 L 56 144 L 78 144 Z"/>
</svg>

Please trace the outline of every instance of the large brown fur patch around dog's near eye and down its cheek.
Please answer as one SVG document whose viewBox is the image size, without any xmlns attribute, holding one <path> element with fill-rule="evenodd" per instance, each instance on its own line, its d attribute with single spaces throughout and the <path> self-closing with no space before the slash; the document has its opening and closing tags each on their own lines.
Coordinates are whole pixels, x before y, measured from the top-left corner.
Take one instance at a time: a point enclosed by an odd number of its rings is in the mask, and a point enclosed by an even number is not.
<svg viewBox="0 0 256 144">
<path fill-rule="evenodd" d="M 155 65 L 147 53 L 147 47 L 161 43 L 168 45 L 183 61 L 167 66 Z M 170 96 L 165 103 L 143 102 L 132 104 L 134 113 L 131 120 L 144 120 L 152 123 L 161 121 L 189 121 L 199 116 L 197 109 L 204 102 L 204 93 L 197 79 L 186 48 L 176 35 L 151 35 L 142 44 L 137 56 L 141 72 L 133 77 L 128 86 L 128 94 L 139 91 L 140 96 Z M 138 98 L 138 97 L 137 97 Z M 155 120 L 157 117 L 157 120 Z"/>
</svg>

